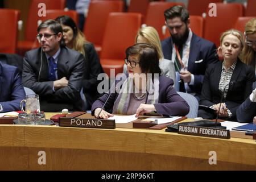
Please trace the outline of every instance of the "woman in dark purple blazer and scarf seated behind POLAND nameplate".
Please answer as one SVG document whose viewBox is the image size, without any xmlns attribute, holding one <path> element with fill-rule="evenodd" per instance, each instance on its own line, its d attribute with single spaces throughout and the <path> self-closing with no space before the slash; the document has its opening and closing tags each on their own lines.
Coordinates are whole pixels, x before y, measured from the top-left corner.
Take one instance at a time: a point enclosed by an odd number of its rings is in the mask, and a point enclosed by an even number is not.
<svg viewBox="0 0 256 182">
<path fill-rule="evenodd" d="M 127 48 L 125 64 L 129 75 L 121 74 L 116 78 L 109 93 L 93 103 L 92 114 L 104 119 L 112 117 L 110 113 L 188 114 L 187 102 L 172 87 L 174 81 L 160 76 L 159 55 L 154 47 L 135 44 Z"/>
</svg>

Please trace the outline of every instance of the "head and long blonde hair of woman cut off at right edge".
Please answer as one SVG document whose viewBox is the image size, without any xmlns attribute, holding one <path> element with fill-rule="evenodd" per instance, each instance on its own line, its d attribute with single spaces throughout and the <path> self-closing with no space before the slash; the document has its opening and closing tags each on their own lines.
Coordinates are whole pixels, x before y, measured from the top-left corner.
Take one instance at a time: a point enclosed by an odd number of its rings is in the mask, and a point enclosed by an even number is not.
<svg viewBox="0 0 256 182">
<path fill-rule="evenodd" d="M 245 64 L 254 68 L 256 75 L 256 19 L 250 19 L 245 25 L 245 48 L 242 52 Z"/>
</svg>

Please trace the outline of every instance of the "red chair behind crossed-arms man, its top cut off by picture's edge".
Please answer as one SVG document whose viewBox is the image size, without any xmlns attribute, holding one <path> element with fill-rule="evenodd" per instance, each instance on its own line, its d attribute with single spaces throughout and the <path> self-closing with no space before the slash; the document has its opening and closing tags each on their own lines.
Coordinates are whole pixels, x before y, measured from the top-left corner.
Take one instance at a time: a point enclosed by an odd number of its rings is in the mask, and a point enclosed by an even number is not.
<svg viewBox="0 0 256 182">
<path fill-rule="evenodd" d="M 18 53 L 24 55 L 26 51 L 29 51 L 32 48 L 39 46 L 38 41 L 36 40 L 38 20 L 42 17 L 38 16 L 39 3 L 44 3 L 47 10 L 51 9 L 64 9 L 65 0 L 32 0 L 30 3 L 30 9 L 28 12 L 27 25 L 25 30 L 25 40 L 18 42 Z"/>
</svg>

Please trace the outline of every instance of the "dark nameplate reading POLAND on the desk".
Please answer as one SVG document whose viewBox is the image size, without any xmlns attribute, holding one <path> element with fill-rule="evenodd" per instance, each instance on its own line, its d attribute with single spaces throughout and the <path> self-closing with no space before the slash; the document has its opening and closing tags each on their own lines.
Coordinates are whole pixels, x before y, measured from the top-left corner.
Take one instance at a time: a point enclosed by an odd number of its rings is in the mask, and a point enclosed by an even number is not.
<svg viewBox="0 0 256 182">
<path fill-rule="evenodd" d="M 115 129 L 115 120 L 96 118 L 60 118 L 59 126 Z"/>
</svg>

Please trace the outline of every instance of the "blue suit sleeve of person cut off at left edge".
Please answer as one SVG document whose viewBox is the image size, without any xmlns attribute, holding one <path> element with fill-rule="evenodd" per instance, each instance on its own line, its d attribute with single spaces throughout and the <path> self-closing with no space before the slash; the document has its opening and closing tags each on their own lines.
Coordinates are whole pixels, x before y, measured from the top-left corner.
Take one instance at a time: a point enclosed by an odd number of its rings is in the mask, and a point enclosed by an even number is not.
<svg viewBox="0 0 256 182">
<path fill-rule="evenodd" d="M 0 62 L 0 113 L 20 110 L 25 96 L 18 68 Z"/>
</svg>

